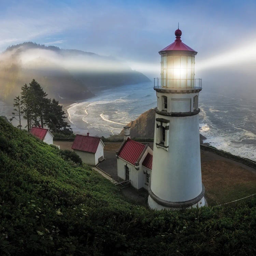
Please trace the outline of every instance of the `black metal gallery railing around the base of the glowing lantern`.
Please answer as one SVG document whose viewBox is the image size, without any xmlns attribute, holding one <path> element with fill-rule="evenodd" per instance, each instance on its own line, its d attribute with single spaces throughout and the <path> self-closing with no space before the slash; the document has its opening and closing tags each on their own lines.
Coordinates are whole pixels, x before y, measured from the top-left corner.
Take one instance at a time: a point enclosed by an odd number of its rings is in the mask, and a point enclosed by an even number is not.
<svg viewBox="0 0 256 256">
<path fill-rule="evenodd" d="M 191 90 L 202 89 L 202 79 L 162 79 L 154 78 L 154 88 Z"/>
</svg>

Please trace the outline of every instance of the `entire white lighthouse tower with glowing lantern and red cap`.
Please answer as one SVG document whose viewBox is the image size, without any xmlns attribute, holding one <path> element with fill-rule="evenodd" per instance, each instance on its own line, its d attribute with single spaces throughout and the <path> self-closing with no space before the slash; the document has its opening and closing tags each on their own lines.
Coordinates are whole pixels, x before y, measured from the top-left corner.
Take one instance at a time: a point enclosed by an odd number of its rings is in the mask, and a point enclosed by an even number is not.
<svg viewBox="0 0 256 256">
<path fill-rule="evenodd" d="M 198 98 L 195 79 L 197 52 L 176 40 L 162 49 L 157 96 L 154 154 L 148 204 L 152 209 L 181 209 L 207 205 L 201 177 Z"/>
</svg>

